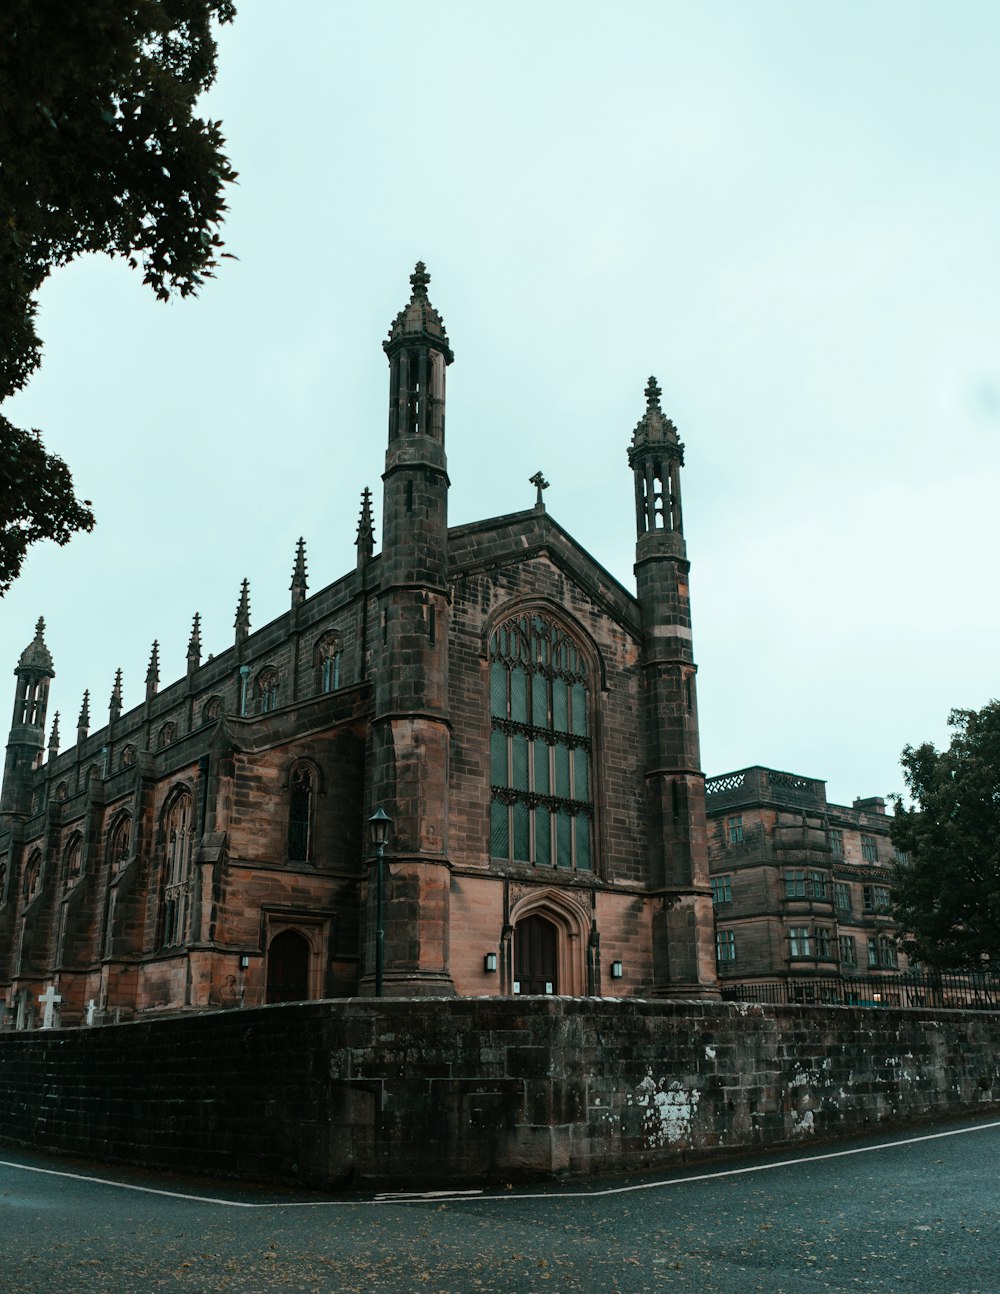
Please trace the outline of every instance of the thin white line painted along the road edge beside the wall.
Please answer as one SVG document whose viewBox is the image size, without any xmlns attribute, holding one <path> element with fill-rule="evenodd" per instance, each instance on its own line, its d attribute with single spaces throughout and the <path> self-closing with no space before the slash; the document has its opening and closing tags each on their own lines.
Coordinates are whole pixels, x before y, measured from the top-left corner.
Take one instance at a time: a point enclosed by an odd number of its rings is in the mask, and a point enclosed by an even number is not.
<svg viewBox="0 0 1000 1294">
<path fill-rule="evenodd" d="M 499 1203 L 519 1200 L 596 1200 L 607 1196 L 625 1196 L 635 1190 L 660 1190 L 664 1187 L 686 1187 L 692 1181 L 715 1181 L 721 1178 L 741 1178 L 750 1172 L 774 1172 L 776 1168 L 794 1168 L 799 1163 L 819 1163 L 823 1159 L 845 1159 L 851 1154 L 872 1154 L 875 1150 L 893 1150 L 899 1145 L 917 1145 L 921 1141 L 938 1141 L 948 1136 L 966 1136 L 970 1132 L 987 1132 L 1000 1128 L 1000 1119 L 991 1123 L 977 1123 L 970 1128 L 950 1128 L 947 1132 L 925 1132 L 922 1136 L 900 1137 L 898 1141 L 880 1141 L 878 1145 L 859 1145 L 850 1150 L 828 1150 L 824 1154 L 805 1154 L 796 1159 L 775 1159 L 772 1163 L 752 1163 L 745 1168 L 719 1168 L 717 1172 L 699 1172 L 684 1178 L 666 1178 L 660 1181 L 634 1181 L 625 1187 L 604 1187 L 595 1190 L 536 1190 L 521 1194 L 505 1192 L 488 1196 L 480 1190 L 420 1190 L 387 1192 L 373 1200 L 273 1200 L 252 1202 L 245 1200 L 217 1200 L 215 1196 L 193 1196 L 181 1190 L 162 1190 L 157 1187 L 137 1187 L 131 1181 L 114 1181 L 109 1178 L 93 1178 L 82 1172 L 66 1172 L 62 1168 L 39 1168 L 27 1163 L 14 1163 L 0 1159 L 0 1168 L 16 1168 L 21 1172 L 41 1172 L 50 1178 L 71 1178 L 74 1181 L 91 1181 L 98 1187 L 115 1187 L 119 1190 L 138 1190 L 147 1196 L 167 1196 L 171 1200 L 191 1200 L 199 1205 L 223 1205 L 226 1209 L 357 1209 L 364 1205 L 418 1205 L 428 1202 L 448 1203 Z"/>
</svg>

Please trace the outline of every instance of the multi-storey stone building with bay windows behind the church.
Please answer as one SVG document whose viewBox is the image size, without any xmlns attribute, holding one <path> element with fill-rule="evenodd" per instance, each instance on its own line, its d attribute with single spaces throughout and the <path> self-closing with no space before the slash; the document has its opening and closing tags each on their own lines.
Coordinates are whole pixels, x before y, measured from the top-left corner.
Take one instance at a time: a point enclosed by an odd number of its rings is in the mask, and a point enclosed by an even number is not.
<svg viewBox="0 0 1000 1294">
<path fill-rule="evenodd" d="M 810 985 L 829 996 L 834 980 L 906 970 L 885 800 L 828 804 L 824 782 L 762 767 L 710 778 L 705 793 L 723 989 L 772 985 L 814 1000 Z"/>
</svg>

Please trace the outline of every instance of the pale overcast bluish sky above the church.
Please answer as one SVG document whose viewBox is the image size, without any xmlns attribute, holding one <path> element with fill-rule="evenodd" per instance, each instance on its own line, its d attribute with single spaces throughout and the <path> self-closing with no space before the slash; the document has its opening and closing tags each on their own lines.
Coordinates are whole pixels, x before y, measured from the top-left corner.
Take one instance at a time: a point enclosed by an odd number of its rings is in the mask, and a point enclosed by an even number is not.
<svg viewBox="0 0 1000 1294">
<path fill-rule="evenodd" d="M 63 748 L 353 567 L 382 340 L 422 259 L 449 331 L 453 524 L 551 515 L 634 590 L 626 450 L 655 374 L 686 444 L 708 774 L 833 802 L 1000 692 L 1000 6 L 964 0 L 238 0 L 204 114 L 238 259 L 158 303 L 87 258 L 8 401 L 98 524 L 0 602 L 44 615 Z M 378 551 L 378 549 L 376 549 Z M 8 678 L 13 707 L 14 677 Z"/>
</svg>

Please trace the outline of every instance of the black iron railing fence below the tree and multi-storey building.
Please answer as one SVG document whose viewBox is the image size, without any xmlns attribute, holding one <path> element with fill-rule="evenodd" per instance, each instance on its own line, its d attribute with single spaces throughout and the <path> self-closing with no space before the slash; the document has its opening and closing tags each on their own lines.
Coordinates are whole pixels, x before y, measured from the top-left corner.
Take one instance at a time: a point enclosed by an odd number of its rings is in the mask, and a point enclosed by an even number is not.
<svg viewBox="0 0 1000 1294">
<path fill-rule="evenodd" d="M 946 1007 L 1000 1011 L 1000 977 L 987 974 L 843 976 L 723 983 L 723 1002 L 770 1005 Z"/>
</svg>

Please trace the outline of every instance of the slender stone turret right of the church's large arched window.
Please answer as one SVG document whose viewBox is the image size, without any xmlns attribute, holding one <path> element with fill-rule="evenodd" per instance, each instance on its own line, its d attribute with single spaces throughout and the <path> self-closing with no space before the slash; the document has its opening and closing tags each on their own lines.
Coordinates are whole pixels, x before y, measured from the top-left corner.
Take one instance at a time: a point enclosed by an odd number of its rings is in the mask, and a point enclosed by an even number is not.
<svg viewBox="0 0 1000 1294">
<path fill-rule="evenodd" d="M 717 996 L 691 644 L 687 549 L 680 510 L 684 446 L 649 378 L 629 448 L 635 476 L 635 578 L 642 615 L 647 866 L 658 996 Z"/>
</svg>

